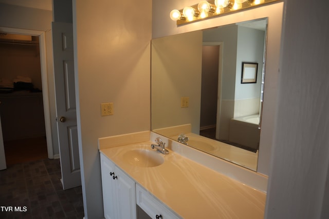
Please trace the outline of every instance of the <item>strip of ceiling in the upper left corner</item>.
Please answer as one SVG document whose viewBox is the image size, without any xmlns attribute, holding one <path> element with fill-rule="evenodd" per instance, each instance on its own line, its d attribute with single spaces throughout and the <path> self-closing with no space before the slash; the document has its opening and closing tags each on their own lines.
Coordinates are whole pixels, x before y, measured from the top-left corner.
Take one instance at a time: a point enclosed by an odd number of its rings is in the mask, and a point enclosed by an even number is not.
<svg viewBox="0 0 329 219">
<path fill-rule="evenodd" d="M 52 0 L 0 0 L 0 3 L 52 11 Z"/>
</svg>

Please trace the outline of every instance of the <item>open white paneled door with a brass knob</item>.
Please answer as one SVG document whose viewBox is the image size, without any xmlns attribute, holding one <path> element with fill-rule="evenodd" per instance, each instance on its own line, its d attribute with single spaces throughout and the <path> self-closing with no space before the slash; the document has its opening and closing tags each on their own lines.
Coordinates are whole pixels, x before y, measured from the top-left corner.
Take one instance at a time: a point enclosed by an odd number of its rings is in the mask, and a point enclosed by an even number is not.
<svg viewBox="0 0 329 219">
<path fill-rule="evenodd" d="M 63 189 L 81 186 L 73 28 L 68 23 L 52 23 L 57 130 Z"/>
</svg>

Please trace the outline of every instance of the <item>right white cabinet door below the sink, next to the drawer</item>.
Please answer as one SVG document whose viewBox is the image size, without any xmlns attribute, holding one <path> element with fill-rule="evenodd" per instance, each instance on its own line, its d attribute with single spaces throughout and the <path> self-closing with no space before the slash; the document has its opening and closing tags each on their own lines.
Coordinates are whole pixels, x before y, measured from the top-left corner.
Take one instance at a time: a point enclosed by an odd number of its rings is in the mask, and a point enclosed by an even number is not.
<svg viewBox="0 0 329 219">
<path fill-rule="evenodd" d="M 119 168 L 115 168 L 118 192 L 118 217 L 121 219 L 136 219 L 135 182 Z"/>
</svg>

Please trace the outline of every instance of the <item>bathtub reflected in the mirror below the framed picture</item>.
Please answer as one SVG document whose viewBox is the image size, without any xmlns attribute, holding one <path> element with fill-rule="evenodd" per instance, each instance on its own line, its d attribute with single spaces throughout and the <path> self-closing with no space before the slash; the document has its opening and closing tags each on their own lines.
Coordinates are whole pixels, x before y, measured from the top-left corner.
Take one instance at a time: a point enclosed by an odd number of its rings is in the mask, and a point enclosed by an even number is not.
<svg viewBox="0 0 329 219">
<path fill-rule="evenodd" d="M 259 122 L 259 114 L 231 118 L 229 141 L 251 149 L 259 149 Z"/>
</svg>

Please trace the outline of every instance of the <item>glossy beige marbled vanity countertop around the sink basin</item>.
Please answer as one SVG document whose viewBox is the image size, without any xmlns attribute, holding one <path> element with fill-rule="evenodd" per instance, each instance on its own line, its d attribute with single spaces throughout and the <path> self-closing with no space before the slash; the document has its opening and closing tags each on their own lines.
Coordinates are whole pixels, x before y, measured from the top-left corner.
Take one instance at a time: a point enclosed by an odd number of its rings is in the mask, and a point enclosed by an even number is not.
<svg viewBox="0 0 329 219">
<path fill-rule="evenodd" d="M 170 151 L 163 164 L 137 167 L 123 154 L 150 149 L 152 142 L 101 149 L 100 152 L 163 204 L 183 218 L 263 218 L 266 193 Z"/>
</svg>

